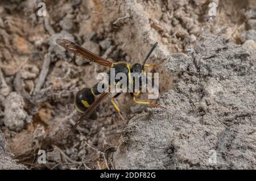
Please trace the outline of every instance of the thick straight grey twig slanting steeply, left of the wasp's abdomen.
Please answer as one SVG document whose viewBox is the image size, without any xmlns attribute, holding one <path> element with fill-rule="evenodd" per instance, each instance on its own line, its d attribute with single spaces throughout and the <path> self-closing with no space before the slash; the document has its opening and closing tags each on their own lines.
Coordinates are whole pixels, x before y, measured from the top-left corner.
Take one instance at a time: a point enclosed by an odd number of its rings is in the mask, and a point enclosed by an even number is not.
<svg viewBox="0 0 256 181">
<path fill-rule="evenodd" d="M 34 95 L 36 95 L 40 91 L 41 87 L 44 84 L 44 81 L 46 81 L 46 75 L 48 74 L 50 64 L 51 64 L 51 52 L 48 52 L 46 54 L 46 58 L 44 58 L 43 67 L 40 72 L 38 82 L 36 82 Z"/>
</svg>

